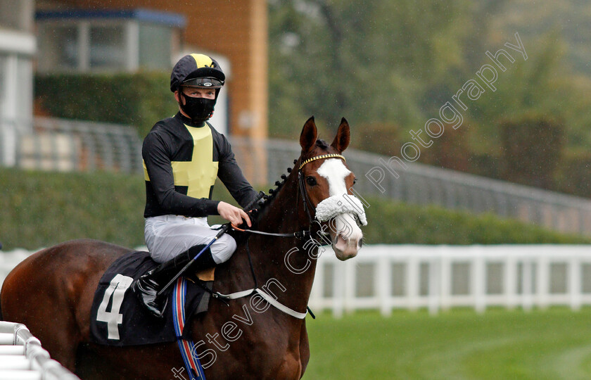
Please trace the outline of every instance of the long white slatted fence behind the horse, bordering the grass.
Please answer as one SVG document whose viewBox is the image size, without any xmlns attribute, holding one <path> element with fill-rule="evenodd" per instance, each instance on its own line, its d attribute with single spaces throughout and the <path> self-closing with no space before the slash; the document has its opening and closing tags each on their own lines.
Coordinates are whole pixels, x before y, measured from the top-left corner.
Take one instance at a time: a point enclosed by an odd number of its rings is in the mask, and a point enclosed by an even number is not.
<svg viewBox="0 0 591 380">
<path fill-rule="evenodd" d="M 591 246 L 364 246 L 341 262 L 330 247 L 318 259 L 310 297 L 314 311 L 336 316 L 361 309 L 591 305 Z M 0 254 L 4 281 L 26 251 Z"/>
</svg>

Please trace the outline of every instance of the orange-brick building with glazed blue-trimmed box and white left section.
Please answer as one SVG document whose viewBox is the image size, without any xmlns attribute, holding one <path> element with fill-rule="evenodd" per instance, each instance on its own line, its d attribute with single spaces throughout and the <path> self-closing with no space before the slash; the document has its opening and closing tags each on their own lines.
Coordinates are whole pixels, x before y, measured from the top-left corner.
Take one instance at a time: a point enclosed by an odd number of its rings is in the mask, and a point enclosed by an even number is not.
<svg viewBox="0 0 591 380">
<path fill-rule="evenodd" d="M 0 0 L 0 164 L 15 165 L 18 136 L 34 132 L 34 71 L 170 70 L 194 51 L 214 56 L 227 73 L 216 127 L 265 139 L 265 0 Z M 264 153 L 246 160 L 247 177 L 258 182 Z"/>
</svg>

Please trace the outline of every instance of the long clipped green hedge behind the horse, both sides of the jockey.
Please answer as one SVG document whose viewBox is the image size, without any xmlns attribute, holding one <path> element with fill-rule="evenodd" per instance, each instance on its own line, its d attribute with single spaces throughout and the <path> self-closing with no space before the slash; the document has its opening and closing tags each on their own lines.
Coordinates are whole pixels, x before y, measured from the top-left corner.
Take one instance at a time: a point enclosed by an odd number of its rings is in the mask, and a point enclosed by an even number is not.
<svg viewBox="0 0 591 380">
<path fill-rule="evenodd" d="M 28 172 L 0 168 L 0 241 L 4 250 L 92 238 L 144 244 L 144 181 L 105 172 Z M 215 198 L 229 201 L 222 186 Z M 590 243 L 493 215 L 471 215 L 370 199 L 367 243 Z M 234 203 L 235 204 L 235 203 Z M 212 218 L 212 222 L 219 222 Z"/>
</svg>

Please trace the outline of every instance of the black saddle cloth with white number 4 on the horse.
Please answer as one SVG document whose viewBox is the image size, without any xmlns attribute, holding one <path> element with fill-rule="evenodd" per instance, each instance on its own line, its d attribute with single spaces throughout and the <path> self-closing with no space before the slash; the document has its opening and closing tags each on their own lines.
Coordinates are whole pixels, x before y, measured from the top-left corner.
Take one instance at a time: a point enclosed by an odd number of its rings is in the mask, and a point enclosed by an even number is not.
<svg viewBox="0 0 591 380">
<path fill-rule="evenodd" d="M 157 266 L 158 262 L 152 260 L 149 253 L 141 251 L 128 253 L 113 262 L 94 293 L 91 341 L 108 346 L 137 346 L 177 340 L 172 320 L 174 286 L 170 286 L 164 295 L 168 297 L 168 305 L 163 319 L 153 317 L 144 310 L 131 290 L 132 281 Z M 212 282 L 202 281 L 201 284 L 211 289 Z M 208 310 L 209 299 L 210 293 L 203 286 L 186 280 L 184 338 L 189 338 L 189 320 L 193 315 Z"/>
</svg>

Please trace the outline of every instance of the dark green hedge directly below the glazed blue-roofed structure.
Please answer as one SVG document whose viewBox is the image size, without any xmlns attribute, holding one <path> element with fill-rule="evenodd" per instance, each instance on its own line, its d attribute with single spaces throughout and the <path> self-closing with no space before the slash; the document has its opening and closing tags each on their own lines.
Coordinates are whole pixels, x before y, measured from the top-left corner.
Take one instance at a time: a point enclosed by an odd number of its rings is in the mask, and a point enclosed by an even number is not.
<svg viewBox="0 0 591 380">
<path fill-rule="evenodd" d="M 155 122 L 177 112 L 170 74 L 37 75 L 39 106 L 56 118 L 133 125 L 143 137 Z"/>
</svg>

